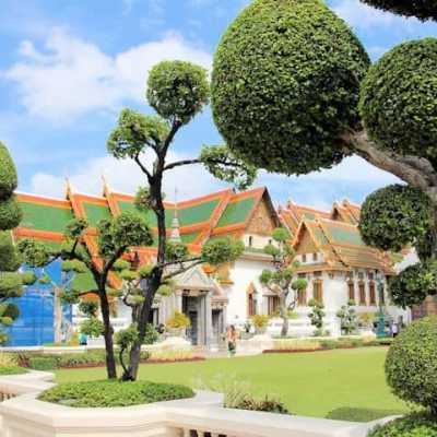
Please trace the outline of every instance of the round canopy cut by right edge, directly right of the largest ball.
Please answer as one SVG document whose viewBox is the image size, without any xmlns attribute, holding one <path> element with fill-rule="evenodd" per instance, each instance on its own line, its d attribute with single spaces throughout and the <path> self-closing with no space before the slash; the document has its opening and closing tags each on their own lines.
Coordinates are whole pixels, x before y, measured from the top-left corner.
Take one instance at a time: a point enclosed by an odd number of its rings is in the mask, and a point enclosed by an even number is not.
<svg viewBox="0 0 437 437">
<path fill-rule="evenodd" d="M 401 44 L 369 70 L 359 110 L 373 140 L 399 154 L 437 160 L 437 39 Z"/>
</svg>

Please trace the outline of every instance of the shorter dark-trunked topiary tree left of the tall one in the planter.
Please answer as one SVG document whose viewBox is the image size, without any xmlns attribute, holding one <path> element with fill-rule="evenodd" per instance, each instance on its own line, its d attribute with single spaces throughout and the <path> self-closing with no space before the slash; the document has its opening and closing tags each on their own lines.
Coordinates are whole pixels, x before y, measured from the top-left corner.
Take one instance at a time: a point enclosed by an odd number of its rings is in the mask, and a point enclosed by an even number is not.
<svg viewBox="0 0 437 437">
<path fill-rule="evenodd" d="M 94 245 L 88 246 L 86 243 L 90 233 L 92 235 L 96 233 L 95 249 Z M 61 259 L 62 269 L 69 272 L 86 270 L 92 274 L 95 290 L 82 291 L 68 286 L 61 291 L 60 298 L 68 304 L 79 304 L 84 295 L 92 294 L 97 297 L 102 321 L 96 317 L 96 305 L 82 302 L 80 309 L 88 316 L 88 319 L 82 324 L 81 330 L 91 336 L 103 334 L 107 376 L 116 378 L 109 299 L 120 296 L 120 292 L 109 286 L 109 276 L 127 270 L 126 264 L 120 264 L 118 261 L 129 253 L 130 247 L 150 246 L 153 243 L 152 231 L 140 214 L 123 212 L 115 218 L 99 221 L 95 231 L 90 229 L 88 223 L 83 218 L 72 220 L 67 225 L 64 238 L 61 248 L 56 251 L 47 250 L 44 245 L 28 239 L 22 240 L 19 248 L 24 261 L 29 265 L 46 265 L 48 262 Z"/>
</svg>

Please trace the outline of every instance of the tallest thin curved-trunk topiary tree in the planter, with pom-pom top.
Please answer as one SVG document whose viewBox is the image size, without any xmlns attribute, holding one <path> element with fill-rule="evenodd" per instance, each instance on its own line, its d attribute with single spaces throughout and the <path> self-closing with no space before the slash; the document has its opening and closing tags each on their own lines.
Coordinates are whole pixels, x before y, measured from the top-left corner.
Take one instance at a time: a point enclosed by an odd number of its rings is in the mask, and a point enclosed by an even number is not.
<svg viewBox="0 0 437 437">
<path fill-rule="evenodd" d="M 127 335 L 130 341 L 125 342 L 130 350 L 129 365 L 123 373 L 126 380 L 137 378 L 141 344 L 146 335 L 155 295 L 169 293 L 172 279 L 194 265 L 233 261 L 244 250 L 241 241 L 231 238 L 210 239 L 198 255 L 189 253 L 181 241 L 169 241 L 162 188 L 165 174 L 184 165 L 202 164 L 213 176 L 234 181 L 238 188 L 248 187 L 256 177 L 255 167 L 234 155 L 225 145 L 204 146 L 200 155 L 192 160 L 167 162 L 175 135 L 209 103 L 210 86 L 204 69 L 184 61 L 158 63 L 150 71 L 146 98 L 157 115 L 146 116 L 123 109 L 118 126 L 107 141 L 113 156 L 134 161 L 145 175 L 146 186 L 139 189 L 135 204 L 140 211 L 154 213 L 157 227 L 156 257 L 139 271 L 141 280 L 132 288 L 135 290 L 135 298 L 125 299 L 132 308 L 132 322 L 138 330 L 137 336 L 130 332 Z M 152 166 L 143 161 L 143 154 L 149 152 L 154 156 Z"/>
</svg>

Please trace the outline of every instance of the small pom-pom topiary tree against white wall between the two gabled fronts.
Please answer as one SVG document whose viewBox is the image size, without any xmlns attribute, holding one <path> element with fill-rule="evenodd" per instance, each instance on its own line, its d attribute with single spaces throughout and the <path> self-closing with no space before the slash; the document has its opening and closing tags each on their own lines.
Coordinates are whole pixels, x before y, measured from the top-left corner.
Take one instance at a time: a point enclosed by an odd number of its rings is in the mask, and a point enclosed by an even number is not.
<svg viewBox="0 0 437 437">
<path fill-rule="evenodd" d="M 286 336 L 290 312 L 296 307 L 297 293 L 306 290 L 308 283 L 304 279 L 293 280 L 299 263 L 293 262 L 294 250 L 287 241 L 290 238 L 287 231 L 276 228 L 273 231 L 272 238 L 275 245 L 265 246 L 264 252 L 272 257 L 273 269 L 263 270 L 260 282 L 280 298 L 280 317 L 283 320 L 281 335 Z"/>
</svg>

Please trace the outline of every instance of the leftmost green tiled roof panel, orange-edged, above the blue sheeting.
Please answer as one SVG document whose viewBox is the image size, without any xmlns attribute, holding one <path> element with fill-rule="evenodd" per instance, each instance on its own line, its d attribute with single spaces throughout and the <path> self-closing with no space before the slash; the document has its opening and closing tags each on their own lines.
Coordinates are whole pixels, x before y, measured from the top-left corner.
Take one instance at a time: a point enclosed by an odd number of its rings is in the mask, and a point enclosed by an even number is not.
<svg viewBox="0 0 437 437">
<path fill-rule="evenodd" d="M 23 220 L 20 226 L 37 231 L 63 233 L 69 221 L 74 218 L 72 210 L 31 202 L 20 202 Z"/>
</svg>

